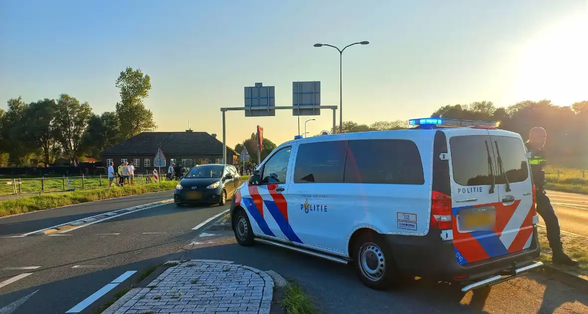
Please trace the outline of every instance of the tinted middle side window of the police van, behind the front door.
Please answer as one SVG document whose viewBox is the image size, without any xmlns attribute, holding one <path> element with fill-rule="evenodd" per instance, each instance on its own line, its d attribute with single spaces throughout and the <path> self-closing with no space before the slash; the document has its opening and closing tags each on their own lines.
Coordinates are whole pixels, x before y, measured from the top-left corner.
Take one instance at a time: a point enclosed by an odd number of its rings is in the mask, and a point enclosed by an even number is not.
<svg viewBox="0 0 588 314">
<path fill-rule="evenodd" d="M 305 143 L 298 146 L 294 183 L 342 183 L 347 141 Z"/>
</svg>

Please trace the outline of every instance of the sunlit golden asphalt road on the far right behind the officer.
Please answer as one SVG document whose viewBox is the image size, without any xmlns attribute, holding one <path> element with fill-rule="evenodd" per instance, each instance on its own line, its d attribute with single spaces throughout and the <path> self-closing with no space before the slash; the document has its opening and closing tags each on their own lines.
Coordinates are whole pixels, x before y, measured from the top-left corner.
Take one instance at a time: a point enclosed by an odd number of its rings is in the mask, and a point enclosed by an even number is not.
<svg viewBox="0 0 588 314">
<path fill-rule="evenodd" d="M 588 195 L 548 191 L 562 231 L 588 237 Z M 543 219 L 540 224 L 545 225 Z"/>
</svg>

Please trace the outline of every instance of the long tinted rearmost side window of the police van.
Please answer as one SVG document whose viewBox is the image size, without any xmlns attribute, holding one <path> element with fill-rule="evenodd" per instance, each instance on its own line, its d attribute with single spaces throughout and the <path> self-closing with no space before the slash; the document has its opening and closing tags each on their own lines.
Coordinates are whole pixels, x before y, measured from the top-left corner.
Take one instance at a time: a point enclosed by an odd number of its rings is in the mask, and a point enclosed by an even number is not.
<svg viewBox="0 0 588 314">
<path fill-rule="evenodd" d="M 419 148 L 404 139 L 349 141 L 345 183 L 425 184 Z"/>
</svg>

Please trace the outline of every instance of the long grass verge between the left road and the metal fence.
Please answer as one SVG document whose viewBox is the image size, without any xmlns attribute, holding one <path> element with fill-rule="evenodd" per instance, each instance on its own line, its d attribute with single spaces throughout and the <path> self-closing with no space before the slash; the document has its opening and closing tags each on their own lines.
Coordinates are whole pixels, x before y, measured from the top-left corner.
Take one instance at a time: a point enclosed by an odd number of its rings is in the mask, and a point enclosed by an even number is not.
<svg viewBox="0 0 588 314">
<path fill-rule="evenodd" d="M 28 198 L 0 201 L 0 217 L 41 211 L 65 205 L 74 205 L 101 199 L 119 198 L 121 196 L 139 195 L 151 192 L 168 191 L 175 188 L 178 182 L 162 181 L 146 185 L 113 186 L 112 188 L 85 189 L 59 194 L 36 195 Z"/>
</svg>

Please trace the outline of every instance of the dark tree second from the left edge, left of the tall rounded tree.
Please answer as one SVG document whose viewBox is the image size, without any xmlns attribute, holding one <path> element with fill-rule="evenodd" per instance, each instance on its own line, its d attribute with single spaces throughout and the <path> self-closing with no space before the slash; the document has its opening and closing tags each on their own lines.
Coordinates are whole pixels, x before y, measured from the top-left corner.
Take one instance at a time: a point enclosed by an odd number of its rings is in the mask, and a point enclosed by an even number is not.
<svg viewBox="0 0 588 314">
<path fill-rule="evenodd" d="M 55 113 L 57 103 L 45 98 L 29 104 L 25 113 L 27 135 L 41 147 L 45 164 L 51 163 L 51 148 L 55 145 Z"/>
</svg>

